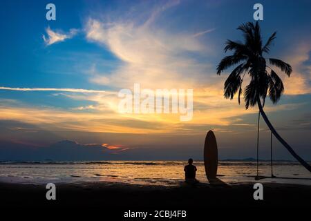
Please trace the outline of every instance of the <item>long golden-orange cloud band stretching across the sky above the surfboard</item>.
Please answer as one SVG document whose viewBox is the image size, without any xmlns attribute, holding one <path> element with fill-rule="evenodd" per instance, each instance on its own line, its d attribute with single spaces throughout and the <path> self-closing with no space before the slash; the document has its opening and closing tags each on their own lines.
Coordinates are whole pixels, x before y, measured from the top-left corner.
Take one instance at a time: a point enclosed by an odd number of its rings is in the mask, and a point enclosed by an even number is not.
<svg viewBox="0 0 311 221">
<path fill-rule="evenodd" d="M 78 99 L 77 97 L 75 99 Z M 82 99 L 82 97 L 79 97 Z M 111 98 L 85 97 L 84 99 L 97 101 L 92 108 L 60 109 L 51 107 L 9 107 L 0 105 L 0 120 L 15 120 L 33 124 L 49 131 L 84 131 L 98 133 L 204 133 L 202 128 L 192 125 L 231 126 L 236 118 L 258 113 L 256 108 L 245 111 L 237 101 L 214 98 L 211 104 L 207 102 L 194 104 L 194 118 L 191 122 L 180 122 L 180 114 L 120 114 L 116 104 L 109 104 Z M 217 103 L 218 102 L 218 103 Z M 219 105 L 219 106 L 218 106 Z M 196 107 L 198 106 L 198 107 Z M 87 107 L 87 106 L 86 106 Z M 299 104 L 281 104 L 265 106 L 265 111 L 288 111 L 299 108 Z M 90 111 L 91 110 L 91 111 Z M 241 123 L 241 122 L 238 122 Z"/>
</svg>

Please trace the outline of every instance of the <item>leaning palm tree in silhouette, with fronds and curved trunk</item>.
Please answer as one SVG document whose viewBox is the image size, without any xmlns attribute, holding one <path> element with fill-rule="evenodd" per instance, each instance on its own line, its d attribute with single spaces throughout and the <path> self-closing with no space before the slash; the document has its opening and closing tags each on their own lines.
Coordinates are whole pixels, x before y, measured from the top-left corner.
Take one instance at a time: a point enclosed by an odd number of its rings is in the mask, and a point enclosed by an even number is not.
<svg viewBox="0 0 311 221">
<path fill-rule="evenodd" d="M 223 70 L 231 66 L 236 66 L 225 81 L 225 98 L 233 99 L 234 95 L 238 93 L 238 104 L 240 104 L 240 96 L 243 93 L 246 109 L 249 108 L 249 106 L 255 106 L 257 104 L 261 116 L 276 139 L 288 149 L 296 160 L 311 172 L 311 166 L 299 157 L 292 147 L 283 140 L 279 133 L 276 132 L 267 118 L 267 115 L 265 115 L 265 112 L 263 111 L 267 94 L 272 100 L 272 103 L 276 104 L 284 90 L 281 78 L 270 66 L 267 65 L 267 60 L 263 57 L 263 53 L 270 52 L 272 43 L 276 38 L 276 32 L 274 32 L 263 45 L 261 28 L 259 27 L 258 22 L 256 22 L 256 24 L 251 22 L 242 24 L 238 27 L 238 30 L 243 32 L 244 41 L 227 40 L 225 43 L 225 52 L 230 50 L 234 53 L 233 55 L 224 57 L 217 66 L 218 75 L 220 75 Z M 283 73 L 290 77 L 290 74 L 292 73 L 292 67 L 290 64 L 287 64 L 280 59 L 269 58 L 268 60 L 271 65 L 280 68 Z M 243 89 L 242 83 L 246 73 L 249 75 L 250 81 Z M 263 104 L 261 103 L 261 100 L 263 101 Z"/>
</svg>

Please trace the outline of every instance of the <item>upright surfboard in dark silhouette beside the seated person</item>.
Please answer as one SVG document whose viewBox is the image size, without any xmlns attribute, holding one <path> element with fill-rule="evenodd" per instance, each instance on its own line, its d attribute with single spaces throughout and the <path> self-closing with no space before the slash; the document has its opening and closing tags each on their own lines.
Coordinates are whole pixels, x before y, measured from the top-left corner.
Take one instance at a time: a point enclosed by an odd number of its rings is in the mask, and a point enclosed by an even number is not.
<svg viewBox="0 0 311 221">
<path fill-rule="evenodd" d="M 216 179 L 218 167 L 218 150 L 213 131 L 207 132 L 204 144 L 204 166 L 208 180 Z"/>
</svg>

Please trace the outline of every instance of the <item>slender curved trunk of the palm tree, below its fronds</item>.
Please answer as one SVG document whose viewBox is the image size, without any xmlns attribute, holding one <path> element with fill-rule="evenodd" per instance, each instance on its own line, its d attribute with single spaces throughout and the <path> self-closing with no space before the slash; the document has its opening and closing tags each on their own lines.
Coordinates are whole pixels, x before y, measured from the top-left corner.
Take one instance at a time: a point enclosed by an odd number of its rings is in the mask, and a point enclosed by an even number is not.
<svg viewBox="0 0 311 221">
<path fill-rule="evenodd" d="M 258 104 L 259 111 L 261 112 L 261 116 L 263 116 L 265 123 L 270 128 L 270 131 L 273 133 L 274 137 L 276 137 L 276 139 L 279 140 L 279 142 L 281 142 L 281 144 L 283 144 L 283 146 L 285 146 L 285 148 L 288 149 L 290 154 L 292 154 L 292 156 L 295 157 L 296 160 L 298 160 L 305 167 L 305 169 L 307 169 L 311 173 L 311 166 L 307 162 L 305 162 L 301 157 L 299 157 L 299 155 L 295 153 L 292 147 L 290 147 L 290 145 L 287 142 L 285 142 L 285 140 L 283 140 L 283 138 L 279 135 L 279 133 L 276 132 L 276 130 L 270 123 L 269 119 L 267 118 L 267 115 L 265 115 L 265 112 L 263 111 L 263 106 L 261 105 L 260 99 L 257 99 L 257 104 Z"/>
</svg>

